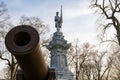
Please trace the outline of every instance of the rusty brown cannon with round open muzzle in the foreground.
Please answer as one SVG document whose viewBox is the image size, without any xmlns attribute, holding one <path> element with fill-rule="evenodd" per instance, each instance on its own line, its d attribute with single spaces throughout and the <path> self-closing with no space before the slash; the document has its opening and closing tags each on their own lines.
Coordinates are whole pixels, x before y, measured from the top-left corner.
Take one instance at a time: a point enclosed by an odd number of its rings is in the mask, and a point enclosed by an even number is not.
<svg viewBox="0 0 120 80">
<path fill-rule="evenodd" d="M 15 56 L 25 80 L 55 80 L 55 70 L 45 63 L 36 29 L 29 25 L 14 27 L 7 33 L 5 45 Z"/>
</svg>

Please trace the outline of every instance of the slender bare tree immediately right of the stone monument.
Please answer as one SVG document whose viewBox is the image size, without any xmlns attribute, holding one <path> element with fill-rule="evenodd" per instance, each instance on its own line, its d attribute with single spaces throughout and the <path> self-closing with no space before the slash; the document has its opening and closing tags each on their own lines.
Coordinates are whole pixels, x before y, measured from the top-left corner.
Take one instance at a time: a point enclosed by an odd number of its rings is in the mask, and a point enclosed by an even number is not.
<svg viewBox="0 0 120 80">
<path fill-rule="evenodd" d="M 80 68 L 79 63 L 83 63 L 84 60 L 79 60 L 80 55 L 80 48 L 78 44 L 78 40 L 75 41 L 74 45 L 69 49 L 67 58 L 68 58 L 68 65 L 70 68 L 74 69 L 75 78 L 79 80 Z"/>
</svg>

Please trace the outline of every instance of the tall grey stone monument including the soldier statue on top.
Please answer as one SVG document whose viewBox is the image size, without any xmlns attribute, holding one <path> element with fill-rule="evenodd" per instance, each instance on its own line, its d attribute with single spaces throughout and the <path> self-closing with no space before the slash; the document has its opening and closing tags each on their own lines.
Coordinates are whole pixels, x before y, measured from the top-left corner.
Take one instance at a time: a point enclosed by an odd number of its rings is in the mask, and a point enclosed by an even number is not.
<svg viewBox="0 0 120 80">
<path fill-rule="evenodd" d="M 67 43 L 67 41 L 64 39 L 63 33 L 61 31 L 62 23 L 63 19 L 61 6 L 60 16 L 59 12 L 56 12 L 55 16 L 56 32 L 52 37 L 52 41 L 50 41 L 49 45 L 47 45 L 47 49 L 51 54 L 50 67 L 55 68 L 56 80 L 75 80 L 73 73 L 68 69 L 67 66 L 66 53 L 71 44 Z"/>
</svg>

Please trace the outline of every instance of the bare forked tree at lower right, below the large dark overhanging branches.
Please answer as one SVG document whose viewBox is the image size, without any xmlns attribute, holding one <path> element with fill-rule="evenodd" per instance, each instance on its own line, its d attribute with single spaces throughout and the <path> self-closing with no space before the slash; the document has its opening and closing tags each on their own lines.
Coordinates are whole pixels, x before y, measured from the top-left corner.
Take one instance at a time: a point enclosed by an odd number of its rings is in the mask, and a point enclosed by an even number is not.
<svg viewBox="0 0 120 80">
<path fill-rule="evenodd" d="M 97 56 L 94 58 L 95 69 L 96 69 L 95 74 L 97 74 L 95 78 L 97 80 L 104 80 L 104 77 L 106 77 L 106 80 L 108 80 L 113 59 L 109 57 L 107 60 L 105 56 L 106 56 L 106 52 L 101 52 L 97 54 Z"/>
</svg>

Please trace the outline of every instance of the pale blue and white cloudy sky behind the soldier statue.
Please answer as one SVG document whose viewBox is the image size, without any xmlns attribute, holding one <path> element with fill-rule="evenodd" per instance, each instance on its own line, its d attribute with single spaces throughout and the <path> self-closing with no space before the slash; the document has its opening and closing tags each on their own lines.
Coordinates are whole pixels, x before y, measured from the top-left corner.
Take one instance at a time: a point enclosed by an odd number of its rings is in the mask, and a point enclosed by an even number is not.
<svg viewBox="0 0 120 80">
<path fill-rule="evenodd" d="M 78 38 L 81 43 L 97 43 L 96 18 L 89 8 L 90 0 L 0 0 L 5 2 L 13 24 L 21 16 L 38 16 L 48 24 L 51 33 L 55 32 L 54 16 L 63 6 L 62 32 L 72 42 Z"/>
</svg>

